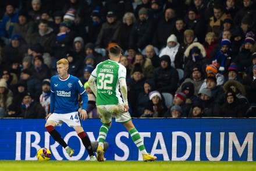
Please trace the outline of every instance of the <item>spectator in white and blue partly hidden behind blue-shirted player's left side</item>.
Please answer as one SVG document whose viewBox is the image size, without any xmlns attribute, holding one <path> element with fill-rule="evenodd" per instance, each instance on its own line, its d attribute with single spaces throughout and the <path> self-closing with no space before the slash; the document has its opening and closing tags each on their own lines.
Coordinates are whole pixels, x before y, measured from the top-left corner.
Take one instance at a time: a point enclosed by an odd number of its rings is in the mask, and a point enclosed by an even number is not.
<svg viewBox="0 0 256 171">
<path fill-rule="evenodd" d="M 45 110 L 45 116 L 50 112 L 50 100 L 51 100 L 51 81 L 49 79 L 42 80 L 42 94 L 40 95 L 39 102 Z"/>
</svg>

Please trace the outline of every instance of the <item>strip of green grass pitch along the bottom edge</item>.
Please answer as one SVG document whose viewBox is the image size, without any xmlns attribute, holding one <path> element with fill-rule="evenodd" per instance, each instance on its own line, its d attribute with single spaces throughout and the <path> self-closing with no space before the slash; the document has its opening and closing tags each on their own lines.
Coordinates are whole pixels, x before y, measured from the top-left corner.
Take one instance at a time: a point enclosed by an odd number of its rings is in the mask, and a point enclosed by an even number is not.
<svg viewBox="0 0 256 171">
<path fill-rule="evenodd" d="M 125 170 L 145 170 L 145 171 L 187 171 L 187 170 L 232 170 L 232 171 L 248 171 L 256 170 L 256 162 L 195 162 L 195 161 L 0 161 L 1 171 L 34 171 L 34 170 L 69 170 L 69 171 L 125 171 Z"/>
</svg>

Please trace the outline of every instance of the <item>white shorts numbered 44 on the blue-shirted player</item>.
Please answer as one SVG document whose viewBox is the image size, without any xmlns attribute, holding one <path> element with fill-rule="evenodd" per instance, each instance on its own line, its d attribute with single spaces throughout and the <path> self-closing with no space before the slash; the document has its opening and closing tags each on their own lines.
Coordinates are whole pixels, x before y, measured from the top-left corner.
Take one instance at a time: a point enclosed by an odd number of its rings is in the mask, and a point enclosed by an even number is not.
<svg viewBox="0 0 256 171">
<path fill-rule="evenodd" d="M 72 112 L 72 113 L 66 113 L 66 114 L 52 113 L 52 115 L 49 116 L 48 120 L 55 121 L 57 123 L 56 126 L 61 126 L 63 122 L 65 122 L 69 127 L 81 126 L 78 112 Z"/>
</svg>

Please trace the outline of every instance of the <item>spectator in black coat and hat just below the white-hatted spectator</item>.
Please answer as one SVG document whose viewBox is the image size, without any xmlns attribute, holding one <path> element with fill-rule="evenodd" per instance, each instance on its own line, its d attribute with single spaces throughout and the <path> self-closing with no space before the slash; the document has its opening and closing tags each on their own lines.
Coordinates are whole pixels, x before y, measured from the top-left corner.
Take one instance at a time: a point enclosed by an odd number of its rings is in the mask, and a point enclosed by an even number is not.
<svg viewBox="0 0 256 171">
<path fill-rule="evenodd" d="M 163 55 L 160 58 L 160 65 L 153 74 L 155 88 L 161 93 L 169 92 L 174 95 L 177 90 L 179 74 L 174 67 L 170 66 L 170 57 L 168 55 Z"/>
</svg>

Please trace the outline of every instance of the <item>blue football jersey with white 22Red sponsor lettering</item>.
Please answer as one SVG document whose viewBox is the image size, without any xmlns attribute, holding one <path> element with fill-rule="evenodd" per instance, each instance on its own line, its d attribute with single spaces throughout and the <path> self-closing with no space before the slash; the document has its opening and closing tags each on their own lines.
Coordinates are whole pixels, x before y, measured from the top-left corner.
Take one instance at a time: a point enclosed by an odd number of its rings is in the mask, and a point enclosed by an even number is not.
<svg viewBox="0 0 256 171">
<path fill-rule="evenodd" d="M 81 81 L 69 74 L 62 80 L 58 75 L 51 78 L 51 93 L 54 93 L 55 101 L 51 102 L 51 113 L 70 113 L 79 109 L 78 94 L 86 93 Z"/>
</svg>

